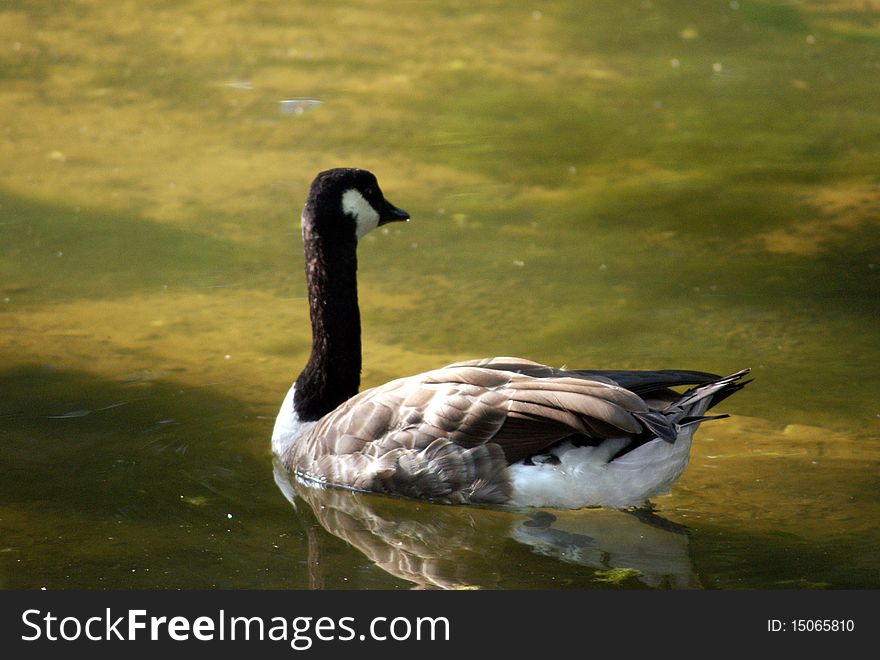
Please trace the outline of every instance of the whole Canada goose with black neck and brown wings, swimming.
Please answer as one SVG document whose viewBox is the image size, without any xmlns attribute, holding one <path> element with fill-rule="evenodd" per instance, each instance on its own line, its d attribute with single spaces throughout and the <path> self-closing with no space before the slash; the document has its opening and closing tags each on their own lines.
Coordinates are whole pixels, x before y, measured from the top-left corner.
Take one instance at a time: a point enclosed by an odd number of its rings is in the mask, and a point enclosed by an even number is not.
<svg viewBox="0 0 880 660">
<path fill-rule="evenodd" d="M 358 393 L 357 242 L 408 219 L 366 170 L 312 182 L 302 214 L 312 352 L 272 433 L 282 465 L 319 484 L 450 503 L 627 507 L 667 492 L 704 413 L 747 369 L 722 378 L 490 358 Z"/>
</svg>

